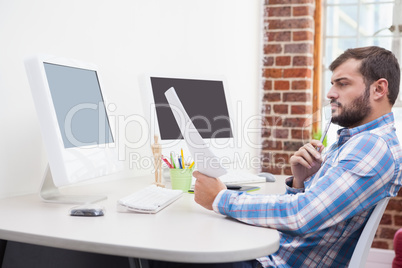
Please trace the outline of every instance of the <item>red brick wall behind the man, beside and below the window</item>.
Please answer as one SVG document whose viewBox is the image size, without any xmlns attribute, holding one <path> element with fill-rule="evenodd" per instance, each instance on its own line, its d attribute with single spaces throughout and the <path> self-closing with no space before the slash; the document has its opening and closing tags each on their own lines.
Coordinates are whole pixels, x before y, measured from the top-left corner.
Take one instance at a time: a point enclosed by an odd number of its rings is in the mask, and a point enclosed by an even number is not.
<svg viewBox="0 0 402 268">
<path fill-rule="evenodd" d="M 263 171 L 291 175 L 289 159 L 311 139 L 315 0 L 264 2 Z M 372 247 L 393 249 L 402 192 L 390 200 Z"/>
</svg>

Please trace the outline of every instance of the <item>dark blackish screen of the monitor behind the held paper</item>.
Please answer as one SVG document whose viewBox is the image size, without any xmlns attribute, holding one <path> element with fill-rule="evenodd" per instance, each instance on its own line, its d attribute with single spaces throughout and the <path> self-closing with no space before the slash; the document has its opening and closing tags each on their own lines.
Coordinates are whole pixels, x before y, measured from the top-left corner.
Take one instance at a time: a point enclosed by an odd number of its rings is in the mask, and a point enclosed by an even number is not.
<svg viewBox="0 0 402 268">
<path fill-rule="evenodd" d="M 151 84 L 162 140 L 183 138 L 165 97 L 171 87 L 204 139 L 233 137 L 222 81 L 151 77 Z"/>
</svg>

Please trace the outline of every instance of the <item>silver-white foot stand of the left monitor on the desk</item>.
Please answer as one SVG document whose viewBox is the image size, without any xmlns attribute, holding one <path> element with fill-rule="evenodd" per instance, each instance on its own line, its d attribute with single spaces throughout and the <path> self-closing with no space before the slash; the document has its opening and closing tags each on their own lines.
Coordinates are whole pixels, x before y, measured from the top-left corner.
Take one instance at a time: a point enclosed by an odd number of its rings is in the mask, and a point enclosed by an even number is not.
<svg viewBox="0 0 402 268">
<path fill-rule="evenodd" d="M 45 176 L 40 189 L 40 196 L 45 202 L 64 204 L 91 204 L 107 199 L 107 196 L 64 195 L 60 193 L 53 182 L 49 165 L 46 167 Z"/>
</svg>

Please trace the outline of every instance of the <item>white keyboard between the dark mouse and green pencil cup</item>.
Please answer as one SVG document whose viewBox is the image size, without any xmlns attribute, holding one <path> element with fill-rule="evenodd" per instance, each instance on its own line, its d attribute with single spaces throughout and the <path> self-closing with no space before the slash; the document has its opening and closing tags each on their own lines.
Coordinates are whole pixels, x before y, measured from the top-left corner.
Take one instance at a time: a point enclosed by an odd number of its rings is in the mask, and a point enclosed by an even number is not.
<svg viewBox="0 0 402 268">
<path fill-rule="evenodd" d="M 117 203 L 129 211 L 157 213 L 177 200 L 182 194 L 182 190 L 172 190 L 150 185 L 120 198 Z"/>
</svg>

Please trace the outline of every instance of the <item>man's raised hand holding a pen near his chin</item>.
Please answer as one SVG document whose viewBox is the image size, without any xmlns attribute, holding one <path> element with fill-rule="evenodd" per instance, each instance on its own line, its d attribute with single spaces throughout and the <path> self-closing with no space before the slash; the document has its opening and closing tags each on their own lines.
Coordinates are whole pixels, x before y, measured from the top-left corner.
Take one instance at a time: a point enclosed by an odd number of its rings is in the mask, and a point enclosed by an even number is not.
<svg viewBox="0 0 402 268">
<path fill-rule="evenodd" d="M 304 181 L 320 169 L 323 149 L 324 146 L 320 141 L 312 140 L 290 158 L 294 188 L 304 188 Z"/>
</svg>

